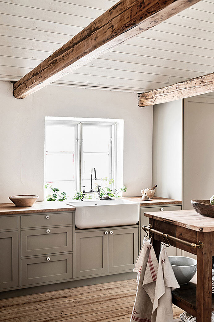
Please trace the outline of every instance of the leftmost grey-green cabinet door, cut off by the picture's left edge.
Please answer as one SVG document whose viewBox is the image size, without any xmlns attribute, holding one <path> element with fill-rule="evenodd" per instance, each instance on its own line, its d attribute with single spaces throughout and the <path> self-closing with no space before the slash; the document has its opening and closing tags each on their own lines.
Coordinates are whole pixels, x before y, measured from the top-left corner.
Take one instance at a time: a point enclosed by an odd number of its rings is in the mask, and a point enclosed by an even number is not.
<svg viewBox="0 0 214 322">
<path fill-rule="evenodd" d="M 1 289 L 16 287 L 18 281 L 18 232 L 0 234 Z"/>
</svg>

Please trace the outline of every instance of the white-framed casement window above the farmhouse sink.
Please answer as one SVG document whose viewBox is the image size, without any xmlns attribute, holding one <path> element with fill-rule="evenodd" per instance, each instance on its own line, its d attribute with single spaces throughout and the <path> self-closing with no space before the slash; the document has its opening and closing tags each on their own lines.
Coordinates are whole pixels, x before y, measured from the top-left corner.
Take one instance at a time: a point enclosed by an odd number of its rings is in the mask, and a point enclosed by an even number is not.
<svg viewBox="0 0 214 322">
<path fill-rule="evenodd" d="M 121 123 L 121 120 L 118 121 Z M 117 175 L 118 161 L 121 163 L 121 156 L 117 158 L 117 128 L 115 120 L 46 118 L 45 184 L 65 191 L 72 198 L 76 190 L 82 190 L 83 185 L 86 191 L 90 190 L 92 168 L 96 169 L 97 175 L 93 188 L 95 184 L 101 185 L 106 176 L 116 181 L 119 175 L 119 181 L 122 181 L 122 165 Z M 48 189 L 45 193 L 49 193 Z"/>
</svg>

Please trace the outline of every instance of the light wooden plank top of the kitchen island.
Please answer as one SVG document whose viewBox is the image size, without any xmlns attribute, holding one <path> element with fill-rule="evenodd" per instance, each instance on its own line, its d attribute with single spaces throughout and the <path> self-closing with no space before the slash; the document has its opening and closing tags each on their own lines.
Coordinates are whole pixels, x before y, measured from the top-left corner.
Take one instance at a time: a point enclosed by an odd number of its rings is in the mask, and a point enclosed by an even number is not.
<svg viewBox="0 0 214 322">
<path fill-rule="evenodd" d="M 195 210 L 176 210 L 145 213 L 146 217 L 153 218 L 165 223 L 200 231 L 214 232 L 214 218 L 200 215 Z"/>
</svg>

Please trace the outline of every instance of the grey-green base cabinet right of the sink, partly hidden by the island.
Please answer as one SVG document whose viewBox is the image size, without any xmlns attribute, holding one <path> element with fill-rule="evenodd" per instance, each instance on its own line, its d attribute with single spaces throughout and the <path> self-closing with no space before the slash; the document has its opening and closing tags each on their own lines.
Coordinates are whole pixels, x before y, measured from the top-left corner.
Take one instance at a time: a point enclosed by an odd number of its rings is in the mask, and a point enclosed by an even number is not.
<svg viewBox="0 0 214 322">
<path fill-rule="evenodd" d="M 163 210 L 162 210 L 163 209 Z M 173 210 L 181 210 L 181 206 L 158 206 L 158 207 L 151 207 L 151 208 L 141 208 L 140 210 L 140 225 L 146 225 L 149 224 L 149 218 L 144 216 L 144 213 L 151 213 L 153 211 L 173 211 Z M 146 235 L 146 232 L 141 229 L 140 230 L 140 245 L 143 244 L 144 235 Z M 167 248 L 167 254 L 168 256 L 176 256 L 177 255 L 177 249 L 176 247 L 170 246 Z"/>
</svg>

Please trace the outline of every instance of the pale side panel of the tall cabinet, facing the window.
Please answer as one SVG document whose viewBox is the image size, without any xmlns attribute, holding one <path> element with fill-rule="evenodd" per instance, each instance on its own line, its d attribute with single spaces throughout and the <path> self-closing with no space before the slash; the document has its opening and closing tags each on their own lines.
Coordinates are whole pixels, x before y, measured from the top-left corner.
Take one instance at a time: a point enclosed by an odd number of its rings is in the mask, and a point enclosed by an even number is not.
<svg viewBox="0 0 214 322">
<path fill-rule="evenodd" d="M 152 185 L 156 195 L 182 199 L 182 100 L 153 107 Z"/>
</svg>

